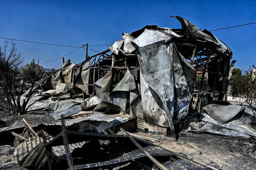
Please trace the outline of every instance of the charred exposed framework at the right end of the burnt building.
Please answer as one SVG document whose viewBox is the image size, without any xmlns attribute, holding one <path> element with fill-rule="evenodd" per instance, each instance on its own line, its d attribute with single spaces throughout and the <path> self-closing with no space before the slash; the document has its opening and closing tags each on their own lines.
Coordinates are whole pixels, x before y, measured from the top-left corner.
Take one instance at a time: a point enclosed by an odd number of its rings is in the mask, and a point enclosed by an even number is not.
<svg viewBox="0 0 256 170">
<path fill-rule="evenodd" d="M 208 100 L 215 100 L 215 98 L 218 100 L 224 99 L 227 92 L 226 84 L 228 83 L 227 77 L 229 70 L 229 59 L 225 58 L 228 57 L 214 48 L 207 48 L 202 42 L 180 39 L 176 40 L 175 43 L 179 45 L 181 53 L 184 49 L 190 51 L 190 55 L 184 55 L 184 57 L 189 60 L 189 63 L 195 68 L 196 77 L 200 79 L 200 82 L 198 82 L 198 85 L 200 86 L 196 87 L 195 82 L 195 88 L 192 92 L 192 99 L 197 98 L 196 106 L 194 108 L 195 111 L 200 112 L 201 106 L 207 104 Z M 213 68 L 212 65 L 209 66 L 209 62 L 216 62 L 215 67 Z M 222 83 L 222 88 L 219 88 L 221 90 L 216 88 L 218 76 L 223 79 L 222 81 L 219 81 Z M 209 79 L 211 79 L 210 82 Z M 202 103 L 203 96 L 207 99 L 206 103 Z"/>
</svg>

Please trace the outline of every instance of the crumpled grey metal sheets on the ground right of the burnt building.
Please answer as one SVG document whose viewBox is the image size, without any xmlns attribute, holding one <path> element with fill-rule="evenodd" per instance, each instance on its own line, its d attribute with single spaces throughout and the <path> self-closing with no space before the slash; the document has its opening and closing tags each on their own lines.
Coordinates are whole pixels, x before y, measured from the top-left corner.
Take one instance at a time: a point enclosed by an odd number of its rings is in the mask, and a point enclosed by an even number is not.
<svg viewBox="0 0 256 170">
<path fill-rule="evenodd" d="M 201 130 L 225 136 L 256 137 L 256 130 L 239 120 L 245 110 L 244 105 L 219 102 L 216 101 L 203 107 L 207 114 L 204 113 L 199 118 L 204 122 Z"/>
</svg>

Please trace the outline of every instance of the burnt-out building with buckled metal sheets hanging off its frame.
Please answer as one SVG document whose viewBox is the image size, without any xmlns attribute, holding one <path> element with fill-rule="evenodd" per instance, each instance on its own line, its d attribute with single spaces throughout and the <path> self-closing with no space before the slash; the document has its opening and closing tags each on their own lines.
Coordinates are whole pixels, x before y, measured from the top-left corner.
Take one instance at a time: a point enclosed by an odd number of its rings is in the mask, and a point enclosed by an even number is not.
<svg viewBox="0 0 256 170">
<path fill-rule="evenodd" d="M 200 112 L 208 101 L 224 99 L 232 51 L 210 31 L 174 18 L 181 29 L 145 26 L 78 65 L 64 62 L 37 82 L 52 96 L 50 103 L 41 100 L 44 108 L 52 108 L 55 119 L 82 111 L 119 113 L 136 118 L 141 128 L 150 122 L 173 132 L 189 109 Z"/>
</svg>

